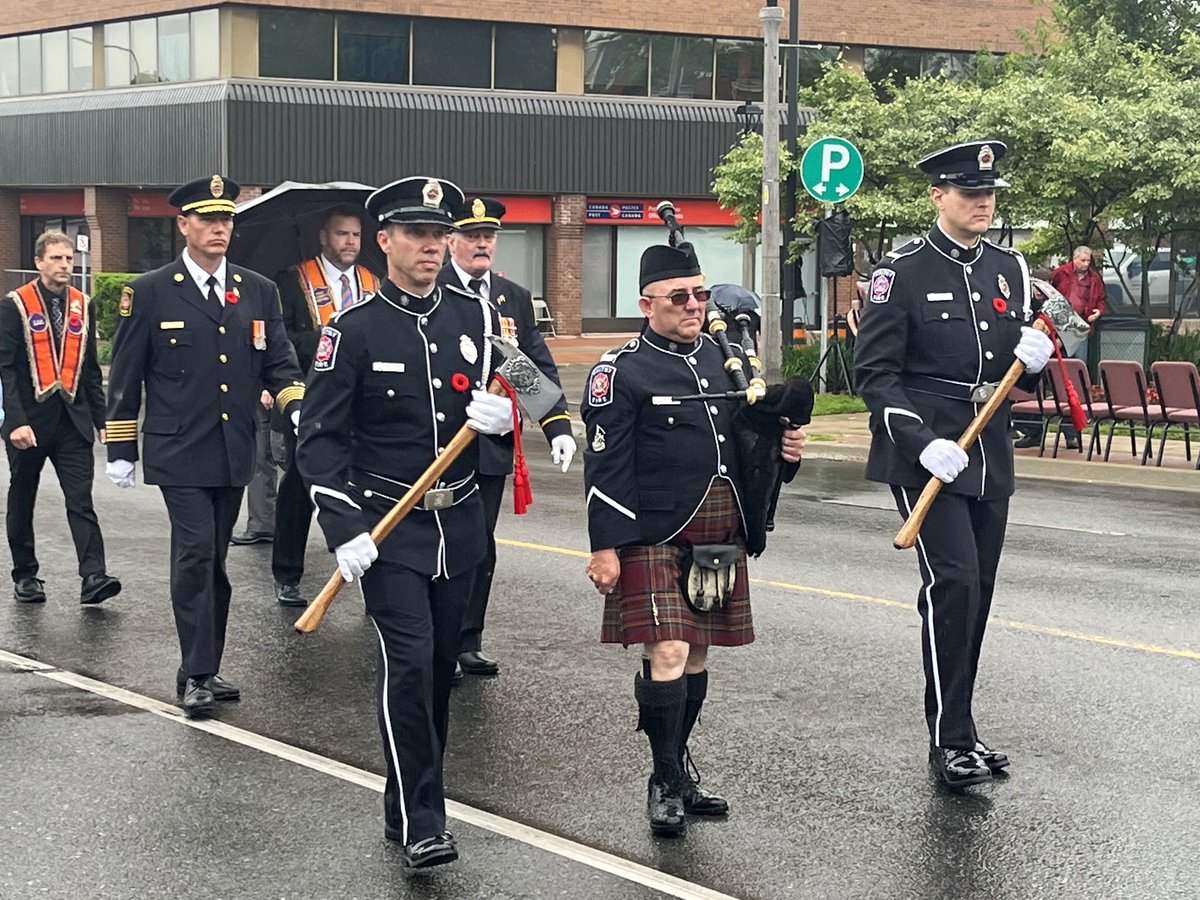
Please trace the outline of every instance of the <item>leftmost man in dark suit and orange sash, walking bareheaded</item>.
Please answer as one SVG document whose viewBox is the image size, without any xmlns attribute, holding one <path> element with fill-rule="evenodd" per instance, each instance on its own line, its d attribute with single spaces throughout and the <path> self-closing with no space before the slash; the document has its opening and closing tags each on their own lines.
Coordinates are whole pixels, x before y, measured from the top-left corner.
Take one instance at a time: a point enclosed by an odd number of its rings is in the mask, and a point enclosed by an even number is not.
<svg viewBox="0 0 1200 900">
<path fill-rule="evenodd" d="M 79 558 L 82 604 L 121 592 L 104 571 L 104 539 L 91 503 L 94 434 L 104 440 L 104 389 L 96 361 L 96 319 L 89 298 L 71 287 L 71 239 L 46 232 L 37 239 L 38 277 L 0 305 L 0 379 L 8 451 L 8 548 L 13 596 L 46 600 L 34 551 L 34 504 L 42 466 L 54 466 L 66 500 L 67 524 Z"/>
</svg>

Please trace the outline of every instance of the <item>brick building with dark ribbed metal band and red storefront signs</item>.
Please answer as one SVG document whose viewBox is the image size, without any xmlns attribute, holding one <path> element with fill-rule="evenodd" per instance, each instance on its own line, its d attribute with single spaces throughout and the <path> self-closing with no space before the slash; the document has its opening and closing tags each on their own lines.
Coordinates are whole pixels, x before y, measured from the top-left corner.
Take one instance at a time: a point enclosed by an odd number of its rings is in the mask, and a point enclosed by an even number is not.
<svg viewBox="0 0 1200 900">
<path fill-rule="evenodd" d="M 709 191 L 744 127 L 736 110 L 761 102 L 758 10 L 498 0 L 480 22 L 427 0 L 13 0 L 0 22 L 2 287 L 46 227 L 89 235 L 94 271 L 161 265 L 180 250 L 167 193 L 199 175 L 228 174 L 246 199 L 284 180 L 430 173 L 506 199 L 499 268 L 547 301 L 560 334 L 625 329 L 662 198 L 709 278 L 742 281 Z M 839 53 L 871 77 L 962 71 L 980 47 L 1016 49 L 1042 14 L 1026 0 L 806 0 L 794 74 Z"/>
</svg>

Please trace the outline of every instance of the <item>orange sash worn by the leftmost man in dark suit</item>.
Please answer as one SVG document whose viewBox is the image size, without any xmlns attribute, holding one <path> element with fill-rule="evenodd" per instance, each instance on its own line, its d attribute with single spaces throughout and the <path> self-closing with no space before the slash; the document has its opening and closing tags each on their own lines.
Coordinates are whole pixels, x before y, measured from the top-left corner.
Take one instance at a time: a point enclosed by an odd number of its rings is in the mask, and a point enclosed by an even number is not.
<svg viewBox="0 0 1200 900">
<path fill-rule="evenodd" d="M 25 322 L 25 346 L 29 348 L 29 372 L 34 379 L 34 397 L 41 403 L 55 390 L 62 391 L 73 402 L 83 373 L 83 358 L 88 341 L 88 298 L 76 288 L 67 288 L 66 307 L 62 311 L 61 347 L 55 346 L 50 334 L 50 312 L 42 302 L 37 282 L 31 281 L 17 288 L 17 308 Z"/>
</svg>

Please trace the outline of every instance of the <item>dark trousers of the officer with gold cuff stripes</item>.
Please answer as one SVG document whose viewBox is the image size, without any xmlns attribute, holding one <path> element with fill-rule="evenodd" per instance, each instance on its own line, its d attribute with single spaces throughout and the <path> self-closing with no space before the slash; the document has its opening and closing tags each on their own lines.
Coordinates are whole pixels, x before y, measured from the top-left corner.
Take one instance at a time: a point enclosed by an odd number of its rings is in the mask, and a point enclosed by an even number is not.
<svg viewBox="0 0 1200 900">
<path fill-rule="evenodd" d="M 170 605 L 184 674 L 216 674 L 233 594 L 224 560 L 245 488 L 162 485 L 161 490 L 170 517 Z"/>
</svg>

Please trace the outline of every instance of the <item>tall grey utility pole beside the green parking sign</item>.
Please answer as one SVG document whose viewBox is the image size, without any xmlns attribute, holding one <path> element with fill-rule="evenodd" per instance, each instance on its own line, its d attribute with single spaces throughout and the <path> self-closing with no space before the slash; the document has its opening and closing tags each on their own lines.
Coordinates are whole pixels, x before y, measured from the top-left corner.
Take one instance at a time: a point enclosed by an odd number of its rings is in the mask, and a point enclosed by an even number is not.
<svg viewBox="0 0 1200 900">
<path fill-rule="evenodd" d="M 784 11 L 769 0 L 758 11 L 762 22 L 762 354 L 767 382 L 780 380 L 784 335 L 780 329 L 782 302 L 779 296 L 779 30 Z"/>
</svg>

